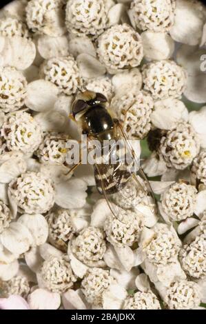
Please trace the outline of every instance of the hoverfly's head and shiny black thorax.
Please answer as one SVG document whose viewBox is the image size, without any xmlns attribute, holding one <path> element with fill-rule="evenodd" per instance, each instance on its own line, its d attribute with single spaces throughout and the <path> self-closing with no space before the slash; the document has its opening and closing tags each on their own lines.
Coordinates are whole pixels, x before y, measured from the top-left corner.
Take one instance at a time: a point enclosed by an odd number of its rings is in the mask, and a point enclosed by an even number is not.
<svg viewBox="0 0 206 324">
<path fill-rule="evenodd" d="M 113 138 L 114 121 L 105 108 L 106 103 L 106 97 L 98 92 L 85 91 L 76 98 L 72 114 L 76 121 L 81 122 L 83 134 L 100 141 Z"/>
</svg>

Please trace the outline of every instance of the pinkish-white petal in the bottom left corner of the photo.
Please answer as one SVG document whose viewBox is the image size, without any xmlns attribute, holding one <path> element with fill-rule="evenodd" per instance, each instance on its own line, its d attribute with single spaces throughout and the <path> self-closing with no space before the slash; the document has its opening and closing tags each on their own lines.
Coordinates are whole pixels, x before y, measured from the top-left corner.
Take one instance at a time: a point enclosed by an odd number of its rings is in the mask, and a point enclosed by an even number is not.
<svg viewBox="0 0 206 324">
<path fill-rule="evenodd" d="M 0 298 L 0 310 L 29 310 L 29 305 L 21 296 Z"/>
</svg>

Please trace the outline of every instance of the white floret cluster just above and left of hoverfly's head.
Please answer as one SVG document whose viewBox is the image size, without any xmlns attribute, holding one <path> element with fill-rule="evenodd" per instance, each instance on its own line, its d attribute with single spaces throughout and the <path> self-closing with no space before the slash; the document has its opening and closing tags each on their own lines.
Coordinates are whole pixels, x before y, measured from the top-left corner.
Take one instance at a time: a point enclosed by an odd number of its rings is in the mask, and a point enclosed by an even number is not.
<svg viewBox="0 0 206 324">
<path fill-rule="evenodd" d="M 73 57 L 54 57 L 41 66 L 41 76 L 54 83 L 60 92 L 74 94 L 81 89 L 82 79 Z"/>
</svg>

